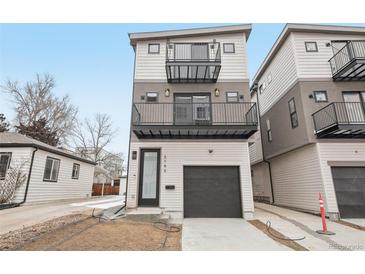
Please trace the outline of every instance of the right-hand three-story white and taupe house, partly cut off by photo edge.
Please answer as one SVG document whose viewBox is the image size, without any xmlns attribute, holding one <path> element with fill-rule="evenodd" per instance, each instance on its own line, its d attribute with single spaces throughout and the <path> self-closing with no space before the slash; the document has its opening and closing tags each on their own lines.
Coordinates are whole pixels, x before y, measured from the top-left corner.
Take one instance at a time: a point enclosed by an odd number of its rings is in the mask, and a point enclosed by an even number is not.
<svg viewBox="0 0 365 274">
<path fill-rule="evenodd" d="M 365 217 L 364 80 L 365 28 L 285 26 L 252 87 L 255 198 L 318 213 L 321 192 L 331 218 Z"/>
</svg>

